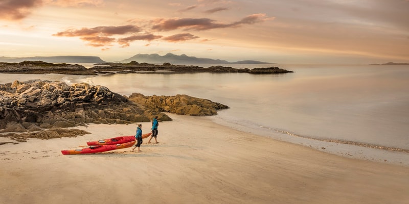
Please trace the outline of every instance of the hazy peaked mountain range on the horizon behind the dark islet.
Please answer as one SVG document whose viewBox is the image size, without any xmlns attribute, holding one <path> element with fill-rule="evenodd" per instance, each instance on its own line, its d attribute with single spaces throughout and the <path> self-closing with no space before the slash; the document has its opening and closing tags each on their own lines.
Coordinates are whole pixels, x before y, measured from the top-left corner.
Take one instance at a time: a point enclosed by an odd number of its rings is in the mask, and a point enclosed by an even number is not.
<svg viewBox="0 0 409 204">
<path fill-rule="evenodd" d="M 260 62 L 255 60 L 244 60 L 244 61 L 237 61 L 237 62 L 228 62 L 225 60 L 215 60 L 210 58 L 197 58 L 197 57 L 190 57 L 185 54 L 183 55 L 174 55 L 172 53 L 168 53 L 164 56 L 160 56 L 158 54 L 138 54 L 131 58 L 116 61 L 120 63 L 129 63 L 131 61 L 136 62 L 146 62 L 152 64 L 163 64 L 165 62 L 169 62 L 171 64 L 274 64 L 269 62 Z"/>
</svg>

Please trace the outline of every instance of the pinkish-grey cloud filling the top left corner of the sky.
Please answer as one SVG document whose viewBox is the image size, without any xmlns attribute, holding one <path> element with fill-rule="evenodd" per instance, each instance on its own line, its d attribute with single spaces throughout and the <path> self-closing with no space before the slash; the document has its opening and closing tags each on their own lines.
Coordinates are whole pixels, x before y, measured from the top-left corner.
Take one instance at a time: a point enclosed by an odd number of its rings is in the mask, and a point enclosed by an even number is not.
<svg viewBox="0 0 409 204">
<path fill-rule="evenodd" d="M 0 19 L 20 20 L 30 15 L 32 9 L 41 5 L 41 0 L 1 0 Z"/>
</svg>

